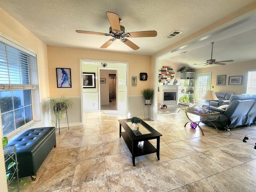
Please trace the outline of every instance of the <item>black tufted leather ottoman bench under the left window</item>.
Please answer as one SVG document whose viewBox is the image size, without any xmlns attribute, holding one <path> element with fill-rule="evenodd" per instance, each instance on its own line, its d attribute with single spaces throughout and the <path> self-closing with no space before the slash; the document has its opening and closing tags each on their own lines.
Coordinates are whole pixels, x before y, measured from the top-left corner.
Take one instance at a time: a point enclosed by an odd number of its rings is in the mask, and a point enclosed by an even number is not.
<svg viewBox="0 0 256 192">
<path fill-rule="evenodd" d="M 36 176 L 36 172 L 52 148 L 56 147 L 55 127 L 27 130 L 7 146 L 14 145 L 17 151 L 19 177 Z"/>
</svg>

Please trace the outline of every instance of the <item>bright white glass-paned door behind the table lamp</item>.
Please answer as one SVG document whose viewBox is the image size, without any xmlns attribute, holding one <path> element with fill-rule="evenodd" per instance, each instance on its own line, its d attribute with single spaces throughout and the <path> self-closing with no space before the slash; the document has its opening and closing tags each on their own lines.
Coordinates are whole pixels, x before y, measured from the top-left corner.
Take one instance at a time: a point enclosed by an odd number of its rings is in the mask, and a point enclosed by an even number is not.
<svg viewBox="0 0 256 192">
<path fill-rule="evenodd" d="M 211 89 L 211 78 L 212 73 L 196 74 L 196 102 L 204 102 L 204 100 L 202 100 L 204 94 L 206 93 L 207 90 Z"/>
</svg>

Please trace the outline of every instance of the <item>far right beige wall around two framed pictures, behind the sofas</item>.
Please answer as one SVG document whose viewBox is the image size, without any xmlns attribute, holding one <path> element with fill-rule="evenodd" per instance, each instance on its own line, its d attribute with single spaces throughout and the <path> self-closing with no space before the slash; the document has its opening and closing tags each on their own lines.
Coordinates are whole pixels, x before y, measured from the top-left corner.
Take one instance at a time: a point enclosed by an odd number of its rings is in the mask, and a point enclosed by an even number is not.
<svg viewBox="0 0 256 192">
<path fill-rule="evenodd" d="M 212 72 L 211 90 L 213 91 L 227 91 L 234 92 L 235 94 L 242 94 L 246 93 L 248 70 L 254 68 L 256 68 L 256 61 L 200 68 L 194 71 L 196 72 L 196 74 Z M 217 75 L 226 75 L 225 86 L 216 86 Z M 243 76 L 242 85 L 228 85 L 228 78 L 230 76 Z M 214 86 L 214 88 L 212 88 L 212 86 Z"/>
</svg>

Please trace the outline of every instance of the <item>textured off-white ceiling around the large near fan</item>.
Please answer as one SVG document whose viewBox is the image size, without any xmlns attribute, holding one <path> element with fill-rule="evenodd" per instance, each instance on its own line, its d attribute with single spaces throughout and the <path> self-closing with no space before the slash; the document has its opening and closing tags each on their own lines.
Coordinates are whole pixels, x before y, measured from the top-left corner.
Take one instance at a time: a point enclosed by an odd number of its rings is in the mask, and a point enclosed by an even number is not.
<svg viewBox="0 0 256 192">
<path fill-rule="evenodd" d="M 254 2 L 256 1 L 0 0 L 0 8 L 47 45 L 152 55 Z M 107 11 L 119 15 L 127 32 L 156 30 L 158 35 L 130 38 L 140 47 L 134 51 L 122 42 L 114 42 L 108 48 L 101 49 L 100 46 L 110 37 L 75 32 L 88 30 L 108 33 L 110 24 Z M 171 39 L 164 38 L 174 30 L 183 33 Z M 211 45 L 208 43 L 206 45 L 210 50 Z M 210 52 L 207 59 L 210 59 Z M 193 62 L 204 60 L 205 58 Z M 176 62 L 187 61 L 176 59 Z"/>
</svg>

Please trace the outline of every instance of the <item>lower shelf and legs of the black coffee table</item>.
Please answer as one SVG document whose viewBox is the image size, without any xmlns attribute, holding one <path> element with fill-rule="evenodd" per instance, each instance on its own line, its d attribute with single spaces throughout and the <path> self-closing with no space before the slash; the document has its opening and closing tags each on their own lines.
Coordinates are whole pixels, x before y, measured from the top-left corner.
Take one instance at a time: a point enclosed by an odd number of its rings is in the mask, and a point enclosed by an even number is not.
<svg viewBox="0 0 256 192">
<path fill-rule="evenodd" d="M 159 151 L 148 140 L 141 140 L 144 141 L 144 147 L 140 149 L 138 148 L 138 142 L 140 142 L 140 140 L 132 141 L 126 132 L 121 132 L 121 135 L 132 154 L 133 166 L 135 166 L 135 157 L 142 155 L 157 153 L 157 158 L 160 160 Z"/>
</svg>

